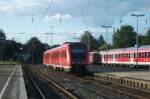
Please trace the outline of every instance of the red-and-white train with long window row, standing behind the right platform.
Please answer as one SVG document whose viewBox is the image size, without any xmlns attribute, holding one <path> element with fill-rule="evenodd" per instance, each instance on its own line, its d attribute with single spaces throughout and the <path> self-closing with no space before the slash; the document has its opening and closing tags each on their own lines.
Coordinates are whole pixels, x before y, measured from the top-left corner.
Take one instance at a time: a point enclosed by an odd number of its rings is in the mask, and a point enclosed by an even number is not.
<svg viewBox="0 0 150 99">
<path fill-rule="evenodd" d="M 101 63 L 108 65 L 131 65 L 150 67 L 150 45 L 100 51 Z"/>
</svg>

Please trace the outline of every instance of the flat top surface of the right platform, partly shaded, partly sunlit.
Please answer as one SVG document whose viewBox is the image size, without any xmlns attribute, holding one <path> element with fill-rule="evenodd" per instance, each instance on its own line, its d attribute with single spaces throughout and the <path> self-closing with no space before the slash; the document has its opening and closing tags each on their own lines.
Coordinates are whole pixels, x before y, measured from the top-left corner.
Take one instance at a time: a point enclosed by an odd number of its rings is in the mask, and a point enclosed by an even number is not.
<svg viewBox="0 0 150 99">
<path fill-rule="evenodd" d="M 134 69 L 131 67 L 104 67 L 90 66 L 90 71 L 103 74 L 112 74 L 118 77 L 135 78 L 150 81 L 150 71 L 142 69 Z"/>
</svg>

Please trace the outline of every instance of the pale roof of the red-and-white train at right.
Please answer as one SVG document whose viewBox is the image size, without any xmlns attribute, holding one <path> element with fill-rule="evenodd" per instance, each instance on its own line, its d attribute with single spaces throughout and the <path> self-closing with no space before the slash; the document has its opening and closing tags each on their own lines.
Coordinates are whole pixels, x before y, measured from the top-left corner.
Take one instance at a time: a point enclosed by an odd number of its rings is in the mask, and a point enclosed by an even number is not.
<svg viewBox="0 0 150 99">
<path fill-rule="evenodd" d="M 128 47 L 128 48 L 120 48 L 120 49 L 112 49 L 112 50 L 107 50 L 108 54 L 112 53 L 129 53 L 129 52 L 136 52 L 137 47 Z M 139 52 L 144 52 L 144 51 L 150 51 L 150 45 L 144 45 L 138 47 Z M 106 51 L 100 51 L 100 53 L 106 53 Z"/>
</svg>

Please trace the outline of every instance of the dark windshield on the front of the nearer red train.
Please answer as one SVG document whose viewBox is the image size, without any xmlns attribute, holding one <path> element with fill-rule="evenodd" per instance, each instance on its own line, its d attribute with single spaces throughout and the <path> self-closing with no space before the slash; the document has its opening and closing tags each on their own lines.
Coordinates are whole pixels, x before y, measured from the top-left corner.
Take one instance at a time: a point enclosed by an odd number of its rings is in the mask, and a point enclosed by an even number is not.
<svg viewBox="0 0 150 99">
<path fill-rule="evenodd" d="M 84 60 L 86 58 L 87 48 L 84 44 L 71 44 L 72 60 Z"/>
</svg>

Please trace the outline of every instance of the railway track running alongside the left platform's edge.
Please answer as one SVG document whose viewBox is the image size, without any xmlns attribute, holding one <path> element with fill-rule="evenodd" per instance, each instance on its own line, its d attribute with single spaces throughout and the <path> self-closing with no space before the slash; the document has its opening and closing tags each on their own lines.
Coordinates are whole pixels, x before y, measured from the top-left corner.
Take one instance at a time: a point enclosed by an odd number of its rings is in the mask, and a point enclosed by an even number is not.
<svg viewBox="0 0 150 99">
<path fill-rule="evenodd" d="M 55 97 L 55 99 L 57 99 L 57 98 L 58 99 L 60 99 L 60 98 L 62 98 L 62 99 L 78 99 L 75 95 L 73 95 L 69 91 L 65 90 L 63 87 L 61 87 L 56 82 L 52 81 L 51 79 L 49 79 L 48 77 L 46 77 L 42 73 L 32 72 L 30 70 L 28 70 L 27 72 L 28 72 L 27 75 L 28 75 L 30 81 L 32 82 L 32 84 L 34 85 L 34 87 L 36 88 L 36 90 L 38 92 L 38 96 L 40 96 L 39 99 L 49 99 L 52 97 L 46 96 L 44 91 L 41 89 L 41 87 L 39 87 L 39 84 L 35 80 L 36 77 L 38 79 L 40 79 L 41 81 L 46 82 L 47 86 L 49 87 L 49 90 L 52 90 L 53 92 L 55 92 L 59 96 L 59 97 Z"/>
</svg>

